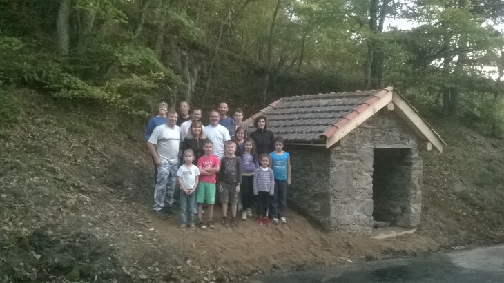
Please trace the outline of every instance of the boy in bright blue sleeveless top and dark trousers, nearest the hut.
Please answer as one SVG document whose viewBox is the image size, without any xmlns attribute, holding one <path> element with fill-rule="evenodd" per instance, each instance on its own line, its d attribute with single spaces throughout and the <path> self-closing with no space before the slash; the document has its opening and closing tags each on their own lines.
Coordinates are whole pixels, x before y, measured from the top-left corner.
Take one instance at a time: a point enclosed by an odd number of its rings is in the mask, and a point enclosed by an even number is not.
<svg viewBox="0 0 504 283">
<path fill-rule="evenodd" d="M 275 173 L 275 194 L 273 202 L 269 205 L 269 212 L 273 224 L 278 224 L 278 217 L 282 224 L 287 224 L 285 208 L 287 207 L 287 186 L 291 184 L 291 157 L 284 148 L 284 138 L 275 137 L 275 151 L 269 154 L 271 157 L 271 169 Z"/>
</svg>

